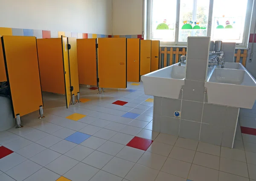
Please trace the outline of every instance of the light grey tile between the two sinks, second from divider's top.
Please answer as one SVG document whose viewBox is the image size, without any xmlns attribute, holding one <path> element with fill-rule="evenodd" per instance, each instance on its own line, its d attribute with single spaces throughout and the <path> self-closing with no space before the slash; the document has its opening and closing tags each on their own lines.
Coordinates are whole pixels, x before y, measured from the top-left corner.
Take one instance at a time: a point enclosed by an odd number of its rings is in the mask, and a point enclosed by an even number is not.
<svg viewBox="0 0 256 181">
<path fill-rule="evenodd" d="M 207 66 L 207 59 L 186 59 L 186 79 L 205 81 Z"/>
</svg>

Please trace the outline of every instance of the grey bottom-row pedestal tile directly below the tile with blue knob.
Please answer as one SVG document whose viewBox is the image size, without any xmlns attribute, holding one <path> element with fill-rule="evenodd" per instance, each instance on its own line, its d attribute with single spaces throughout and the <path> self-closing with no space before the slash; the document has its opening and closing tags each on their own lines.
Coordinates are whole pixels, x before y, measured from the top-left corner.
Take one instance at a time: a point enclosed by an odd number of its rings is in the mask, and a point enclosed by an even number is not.
<svg viewBox="0 0 256 181">
<path fill-rule="evenodd" d="M 153 121 L 154 122 L 154 121 Z M 169 135 L 179 135 L 180 119 L 162 116 L 160 122 L 160 132 Z"/>
</svg>

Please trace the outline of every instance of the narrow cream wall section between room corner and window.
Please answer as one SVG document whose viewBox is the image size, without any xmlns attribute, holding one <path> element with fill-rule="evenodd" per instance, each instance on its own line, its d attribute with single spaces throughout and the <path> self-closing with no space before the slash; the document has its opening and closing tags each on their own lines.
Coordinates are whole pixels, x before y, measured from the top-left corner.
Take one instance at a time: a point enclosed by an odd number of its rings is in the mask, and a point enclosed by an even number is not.
<svg viewBox="0 0 256 181">
<path fill-rule="evenodd" d="M 143 0 L 112 0 L 113 35 L 142 34 Z"/>
</svg>

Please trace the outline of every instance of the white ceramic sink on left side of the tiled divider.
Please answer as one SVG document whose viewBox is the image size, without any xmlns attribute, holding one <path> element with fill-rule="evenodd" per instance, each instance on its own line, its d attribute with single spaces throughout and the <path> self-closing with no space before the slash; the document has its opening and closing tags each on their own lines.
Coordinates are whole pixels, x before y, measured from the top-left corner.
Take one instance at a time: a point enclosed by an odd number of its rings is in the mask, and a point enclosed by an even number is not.
<svg viewBox="0 0 256 181">
<path fill-rule="evenodd" d="M 185 83 L 186 66 L 178 63 L 141 76 L 146 95 L 178 99 Z"/>
</svg>

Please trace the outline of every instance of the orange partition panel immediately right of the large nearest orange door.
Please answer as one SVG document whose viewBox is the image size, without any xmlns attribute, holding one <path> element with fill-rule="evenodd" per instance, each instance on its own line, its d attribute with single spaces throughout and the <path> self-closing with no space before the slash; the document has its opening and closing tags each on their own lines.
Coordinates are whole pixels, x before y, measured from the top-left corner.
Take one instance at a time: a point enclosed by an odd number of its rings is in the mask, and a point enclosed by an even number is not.
<svg viewBox="0 0 256 181">
<path fill-rule="evenodd" d="M 37 40 L 42 91 L 65 94 L 61 38 Z"/>
</svg>

